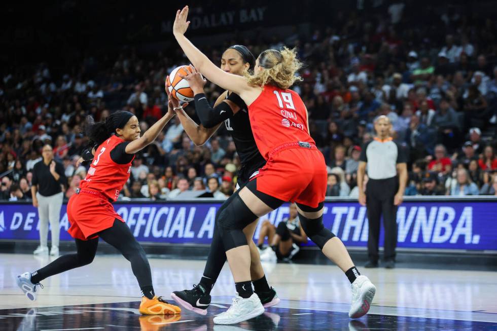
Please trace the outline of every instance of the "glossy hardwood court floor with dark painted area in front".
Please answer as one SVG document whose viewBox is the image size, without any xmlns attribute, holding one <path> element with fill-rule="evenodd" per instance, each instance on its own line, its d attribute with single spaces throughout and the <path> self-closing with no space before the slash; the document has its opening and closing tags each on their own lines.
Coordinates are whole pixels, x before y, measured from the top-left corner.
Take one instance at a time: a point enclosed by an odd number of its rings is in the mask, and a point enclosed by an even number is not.
<svg viewBox="0 0 497 331">
<path fill-rule="evenodd" d="M 0 254 L 0 330 L 497 330 L 497 272 L 426 269 L 365 269 L 377 287 L 368 316 L 351 321 L 350 284 L 335 266 L 265 263 L 270 285 L 282 299 L 264 315 L 234 326 L 212 323 L 231 303 L 234 284 L 227 266 L 211 292 L 207 316 L 188 311 L 172 318 L 140 317 L 139 288 L 119 255 L 97 255 L 93 263 L 42 281 L 31 302 L 15 277 L 53 258 Z M 150 259 L 157 295 L 191 288 L 204 261 Z M 171 300 L 172 301 L 172 300 Z M 174 325 L 174 327 L 173 327 Z"/>
</svg>

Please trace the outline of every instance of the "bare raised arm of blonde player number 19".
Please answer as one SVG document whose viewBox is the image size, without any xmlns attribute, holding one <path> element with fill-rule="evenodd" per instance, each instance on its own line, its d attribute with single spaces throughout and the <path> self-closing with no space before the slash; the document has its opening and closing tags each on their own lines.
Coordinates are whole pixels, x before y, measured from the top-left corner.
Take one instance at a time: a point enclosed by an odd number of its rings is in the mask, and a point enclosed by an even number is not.
<svg viewBox="0 0 497 331">
<path fill-rule="evenodd" d="M 176 12 L 176 18 L 172 26 L 174 37 L 185 52 L 193 66 L 199 70 L 212 83 L 226 90 L 233 91 L 243 98 L 243 92 L 250 89 L 243 77 L 221 70 L 212 63 L 198 48 L 196 48 L 186 37 L 185 32 L 190 25 L 187 21 L 188 6 Z"/>
</svg>

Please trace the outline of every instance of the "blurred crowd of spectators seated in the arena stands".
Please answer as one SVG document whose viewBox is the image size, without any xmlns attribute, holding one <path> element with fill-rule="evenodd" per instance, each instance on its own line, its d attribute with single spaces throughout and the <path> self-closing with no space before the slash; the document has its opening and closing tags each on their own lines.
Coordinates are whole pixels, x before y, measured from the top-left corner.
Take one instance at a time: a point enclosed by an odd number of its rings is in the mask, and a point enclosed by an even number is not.
<svg viewBox="0 0 497 331">
<path fill-rule="evenodd" d="M 409 155 L 406 195 L 497 195 L 496 22 L 458 12 L 416 24 L 402 6 L 390 9 L 377 18 L 342 13 L 309 35 L 245 44 L 256 56 L 266 48 L 298 48 L 306 66 L 294 89 L 329 167 L 327 195 L 358 196 L 362 145 L 373 139 L 379 115 L 390 119 L 394 140 Z M 227 46 L 204 50 L 219 63 Z M 179 51 L 128 49 L 107 61 L 88 55 L 60 77 L 46 63 L 7 73 L 0 82 L 1 197 L 30 198 L 30 170 L 48 143 L 64 165 L 69 198 L 88 168 L 76 166 L 87 143 L 86 116 L 99 121 L 126 109 L 145 131 L 166 111 L 164 79 L 180 64 Z M 211 102 L 221 91 L 212 84 L 205 90 Z M 196 119 L 193 105 L 187 110 Z M 196 146 L 175 118 L 136 156 L 121 199 L 172 199 L 190 190 L 226 198 L 238 166 L 224 128 Z"/>
</svg>

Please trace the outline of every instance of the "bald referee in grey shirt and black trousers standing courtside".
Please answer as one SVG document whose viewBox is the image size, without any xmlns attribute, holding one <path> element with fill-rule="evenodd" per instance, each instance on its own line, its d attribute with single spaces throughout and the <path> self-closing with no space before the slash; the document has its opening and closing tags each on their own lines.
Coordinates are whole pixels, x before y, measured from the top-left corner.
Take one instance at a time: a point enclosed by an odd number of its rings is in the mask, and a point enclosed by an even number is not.
<svg viewBox="0 0 497 331">
<path fill-rule="evenodd" d="M 361 152 L 357 171 L 359 203 L 367 206 L 369 221 L 368 256 L 366 268 L 378 267 L 378 241 L 380 218 L 385 228 L 384 265 L 395 267 L 397 246 L 397 206 L 402 203 L 407 182 L 407 159 L 401 146 L 390 137 L 392 123 L 386 116 L 374 121 L 376 137 Z M 368 170 L 369 181 L 364 193 L 364 174 Z M 398 174 L 398 176 L 397 176 Z"/>
</svg>

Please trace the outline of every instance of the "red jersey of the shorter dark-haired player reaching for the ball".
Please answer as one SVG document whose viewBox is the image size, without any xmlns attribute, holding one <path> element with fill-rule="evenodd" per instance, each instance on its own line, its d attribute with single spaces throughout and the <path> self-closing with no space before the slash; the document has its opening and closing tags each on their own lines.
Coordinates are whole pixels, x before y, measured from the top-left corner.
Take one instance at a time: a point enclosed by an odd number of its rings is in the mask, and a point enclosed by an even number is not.
<svg viewBox="0 0 497 331">
<path fill-rule="evenodd" d="M 111 158 L 111 151 L 122 142 L 123 139 L 113 135 L 95 149 L 88 174 L 80 182 L 81 189 L 95 190 L 113 201 L 117 200 L 131 172 L 131 162 L 117 164 Z"/>
</svg>

